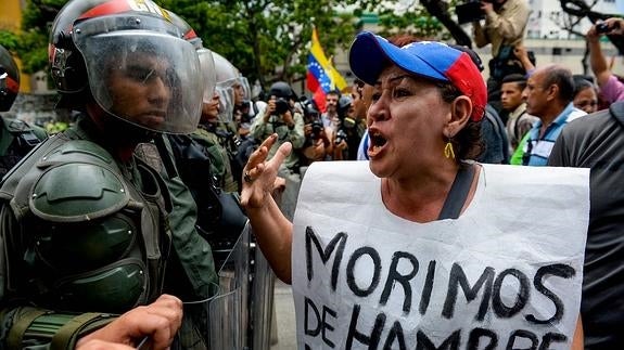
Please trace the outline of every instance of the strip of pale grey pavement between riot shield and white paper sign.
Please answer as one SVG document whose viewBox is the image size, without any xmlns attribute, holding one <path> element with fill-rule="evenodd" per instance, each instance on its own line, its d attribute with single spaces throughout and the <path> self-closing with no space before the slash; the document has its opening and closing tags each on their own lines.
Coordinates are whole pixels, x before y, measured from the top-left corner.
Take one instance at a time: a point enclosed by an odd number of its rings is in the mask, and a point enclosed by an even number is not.
<svg viewBox="0 0 624 350">
<path fill-rule="evenodd" d="M 273 291 L 273 303 L 276 308 L 277 343 L 271 345 L 270 350 L 293 350 L 296 349 L 295 333 L 295 306 L 293 294 L 290 285 L 284 284 L 276 278 Z M 275 339 L 275 333 L 273 333 Z"/>
</svg>

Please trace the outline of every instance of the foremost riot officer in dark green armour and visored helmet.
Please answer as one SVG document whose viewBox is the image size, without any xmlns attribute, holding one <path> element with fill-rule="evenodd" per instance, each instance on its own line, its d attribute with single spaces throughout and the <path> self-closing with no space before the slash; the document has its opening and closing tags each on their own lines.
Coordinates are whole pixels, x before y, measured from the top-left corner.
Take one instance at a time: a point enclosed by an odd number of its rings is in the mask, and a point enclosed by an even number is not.
<svg viewBox="0 0 624 350">
<path fill-rule="evenodd" d="M 198 125 L 206 77 L 182 37 L 150 0 L 72 0 L 59 12 L 52 78 L 60 106 L 80 115 L 0 191 L 4 347 L 71 349 L 163 293 L 186 301 L 214 293 L 211 247 L 194 231 L 188 189 L 157 169 L 158 159 L 135 153 Z M 179 346 L 206 348 L 201 342 Z"/>
</svg>

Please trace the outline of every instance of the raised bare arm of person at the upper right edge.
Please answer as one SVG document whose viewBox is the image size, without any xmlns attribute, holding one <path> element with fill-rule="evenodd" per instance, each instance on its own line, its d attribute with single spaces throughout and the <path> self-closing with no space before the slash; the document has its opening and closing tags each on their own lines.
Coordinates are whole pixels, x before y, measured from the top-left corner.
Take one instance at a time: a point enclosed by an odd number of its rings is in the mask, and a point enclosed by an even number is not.
<svg viewBox="0 0 624 350">
<path fill-rule="evenodd" d="M 624 83 L 617 79 L 609 69 L 607 59 L 600 48 L 600 36 L 623 35 L 624 20 L 612 17 L 603 22 L 598 22 L 587 31 L 587 43 L 589 46 L 589 63 L 596 76 L 596 82 L 600 88 L 602 96 L 609 103 L 624 100 Z"/>
</svg>

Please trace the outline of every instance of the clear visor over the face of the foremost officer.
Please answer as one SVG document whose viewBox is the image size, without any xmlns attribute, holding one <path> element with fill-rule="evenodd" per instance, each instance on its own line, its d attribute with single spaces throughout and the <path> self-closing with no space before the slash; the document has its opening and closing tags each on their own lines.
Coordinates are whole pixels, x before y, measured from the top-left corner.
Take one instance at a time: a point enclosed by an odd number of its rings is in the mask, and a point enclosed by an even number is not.
<svg viewBox="0 0 624 350">
<path fill-rule="evenodd" d="M 104 111 L 156 132 L 196 129 L 206 76 L 174 25 L 147 15 L 105 16 L 76 24 L 73 36 Z"/>
</svg>

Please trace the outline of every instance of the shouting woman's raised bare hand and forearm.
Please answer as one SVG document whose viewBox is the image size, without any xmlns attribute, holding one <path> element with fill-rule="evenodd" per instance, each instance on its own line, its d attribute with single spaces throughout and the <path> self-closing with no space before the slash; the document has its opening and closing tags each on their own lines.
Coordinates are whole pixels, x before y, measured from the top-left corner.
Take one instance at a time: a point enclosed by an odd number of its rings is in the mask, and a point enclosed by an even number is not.
<svg viewBox="0 0 624 350">
<path fill-rule="evenodd" d="M 283 216 L 271 193 L 278 169 L 291 153 L 292 145 L 284 142 L 275 156 L 267 160 L 268 152 L 277 139 L 276 133 L 271 134 L 250 156 L 243 169 L 246 177 L 243 178 L 241 204 L 246 209 L 258 246 L 271 269 L 280 280 L 290 284 L 293 224 Z"/>
</svg>

